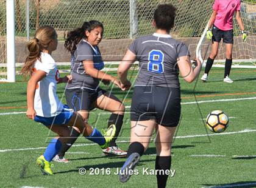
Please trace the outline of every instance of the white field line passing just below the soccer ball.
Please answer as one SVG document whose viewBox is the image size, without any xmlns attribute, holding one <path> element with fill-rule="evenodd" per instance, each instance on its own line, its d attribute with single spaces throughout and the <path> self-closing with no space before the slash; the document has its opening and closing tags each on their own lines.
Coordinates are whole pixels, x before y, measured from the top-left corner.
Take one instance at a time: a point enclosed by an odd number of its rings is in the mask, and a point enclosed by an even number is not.
<svg viewBox="0 0 256 188">
<path fill-rule="evenodd" d="M 226 133 L 215 133 L 210 135 L 188 135 L 188 136 L 176 136 L 176 139 L 179 138 L 195 138 L 195 137 L 202 137 L 202 136 L 221 136 L 221 135 L 233 135 L 233 134 L 240 134 L 240 133 L 249 133 L 249 132 L 256 132 L 254 129 L 244 129 L 238 132 L 226 132 Z M 129 143 L 129 140 L 123 140 L 123 141 L 117 141 L 116 143 Z M 79 147 L 79 146 L 93 146 L 97 145 L 95 143 L 91 144 L 74 144 L 73 147 Z M 39 149 L 46 149 L 46 147 L 30 147 L 30 148 L 20 148 L 20 149 L 2 149 L 0 150 L 0 153 L 2 152 L 16 152 L 16 151 L 24 151 L 24 150 L 39 150 Z"/>
</svg>

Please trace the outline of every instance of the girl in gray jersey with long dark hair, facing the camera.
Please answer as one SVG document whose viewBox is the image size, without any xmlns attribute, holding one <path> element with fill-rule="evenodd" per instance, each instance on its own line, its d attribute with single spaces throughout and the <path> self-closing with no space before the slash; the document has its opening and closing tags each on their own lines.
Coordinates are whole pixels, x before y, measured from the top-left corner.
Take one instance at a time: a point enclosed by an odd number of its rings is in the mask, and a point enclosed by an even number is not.
<svg viewBox="0 0 256 188">
<path fill-rule="evenodd" d="M 105 155 L 126 156 L 127 152 L 116 145 L 124 118 L 124 105 L 111 93 L 101 89 L 99 82 L 105 85 L 113 82 L 120 87 L 120 82 L 115 77 L 102 72 L 104 62 L 98 44 L 101 42 L 104 33 L 103 25 L 99 21 L 84 22 L 81 28 L 68 32 L 65 41 L 65 48 L 71 53 L 71 75 L 72 82 L 66 86 L 65 95 L 68 106 L 78 112 L 87 122 L 90 110 L 98 108 L 112 112 L 108 119 L 108 127 L 111 124 L 116 126 L 115 138 L 110 146 L 104 149 Z M 65 152 L 72 146 L 80 135 L 73 129 L 68 144 L 60 149 L 54 160 L 67 163 L 63 158 Z"/>
</svg>

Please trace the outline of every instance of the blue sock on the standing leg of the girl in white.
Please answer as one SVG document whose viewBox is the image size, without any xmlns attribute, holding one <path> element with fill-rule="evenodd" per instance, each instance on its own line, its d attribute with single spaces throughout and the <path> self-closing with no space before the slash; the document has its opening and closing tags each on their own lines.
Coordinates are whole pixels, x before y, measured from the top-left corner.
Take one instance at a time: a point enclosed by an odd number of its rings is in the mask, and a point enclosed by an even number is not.
<svg viewBox="0 0 256 188">
<path fill-rule="evenodd" d="M 52 161 L 54 156 L 59 152 L 60 147 L 62 147 L 62 142 L 59 139 L 53 138 L 43 153 L 46 161 Z"/>
</svg>

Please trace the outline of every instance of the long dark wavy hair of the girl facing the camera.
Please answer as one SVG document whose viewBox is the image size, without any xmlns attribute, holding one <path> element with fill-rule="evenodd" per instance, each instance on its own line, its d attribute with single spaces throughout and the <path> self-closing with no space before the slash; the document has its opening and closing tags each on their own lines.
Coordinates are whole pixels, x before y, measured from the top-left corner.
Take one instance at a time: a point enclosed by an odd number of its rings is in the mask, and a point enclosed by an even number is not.
<svg viewBox="0 0 256 188">
<path fill-rule="evenodd" d="M 91 20 L 89 22 L 84 22 L 82 27 L 68 32 L 67 35 L 65 34 L 65 49 L 73 54 L 76 51 L 77 44 L 81 41 L 81 39 L 86 38 L 85 32 L 91 32 L 91 30 L 95 29 L 96 27 L 101 27 L 102 29 L 104 29 L 101 22 Z"/>
</svg>

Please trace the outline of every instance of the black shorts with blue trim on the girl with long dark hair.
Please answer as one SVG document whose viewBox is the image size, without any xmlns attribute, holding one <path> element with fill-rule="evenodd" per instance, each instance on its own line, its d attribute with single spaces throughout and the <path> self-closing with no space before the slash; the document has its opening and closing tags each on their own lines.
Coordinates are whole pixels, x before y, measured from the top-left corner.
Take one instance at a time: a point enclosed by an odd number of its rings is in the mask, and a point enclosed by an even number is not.
<svg viewBox="0 0 256 188">
<path fill-rule="evenodd" d="M 76 112 L 79 110 L 93 110 L 95 108 L 93 102 L 101 95 L 106 95 L 109 98 L 119 101 L 116 96 L 108 93 L 104 89 L 98 89 L 96 91 L 89 89 L 66 89 L 65 95 L 68 106 Z"/>
</svg>

